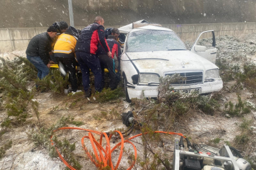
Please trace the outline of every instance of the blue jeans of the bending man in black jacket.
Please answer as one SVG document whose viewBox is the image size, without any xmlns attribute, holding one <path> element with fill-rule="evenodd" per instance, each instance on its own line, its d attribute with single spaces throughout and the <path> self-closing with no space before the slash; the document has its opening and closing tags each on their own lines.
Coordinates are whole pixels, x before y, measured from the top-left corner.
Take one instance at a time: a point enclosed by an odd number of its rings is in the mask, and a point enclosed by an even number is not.
<svg viewBox="0 0 256 170">
<path fill-rule="evenodd" d="M 38 79 L 43 79 L 49 74 L 50 69 L 44 64 L 43 60 L 39 56 L 31 57 L 26 55 L 26 59 L 28 59 L 37 68 Z"/>
</svg>

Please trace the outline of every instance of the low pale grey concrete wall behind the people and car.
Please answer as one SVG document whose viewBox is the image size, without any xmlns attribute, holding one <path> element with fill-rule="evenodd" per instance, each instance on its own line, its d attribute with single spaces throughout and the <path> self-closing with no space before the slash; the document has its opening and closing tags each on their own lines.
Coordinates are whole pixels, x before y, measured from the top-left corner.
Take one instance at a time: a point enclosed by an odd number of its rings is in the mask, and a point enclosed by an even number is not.
<svg viewBox="0 0 256 170">
<path fill-rule="evenodd" d="M 105 28 L 119 28 L 121 25 L 105 26 Z M 256 23 L 214 23 L 189 25 L 162 25 L 175 31 L 183 41 L 195 40 L 199 33 L 214 30 L 216 36 L 237 36 L 243 33 L 255 33 Z M 82 27 L 76 26 L 78 29 Z M 47 28 L 2 28 L 0 29 L 0 52 L 26 49 L 30 39 Z"/>
</svg>

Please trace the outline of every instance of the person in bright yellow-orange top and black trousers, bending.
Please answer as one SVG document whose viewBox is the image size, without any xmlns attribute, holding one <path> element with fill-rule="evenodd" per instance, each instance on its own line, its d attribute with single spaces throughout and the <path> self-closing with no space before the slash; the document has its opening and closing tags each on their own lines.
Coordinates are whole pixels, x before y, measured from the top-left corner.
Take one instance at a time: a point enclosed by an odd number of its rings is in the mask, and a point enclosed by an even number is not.
<svg viewBox="0 0 256 170">
<path fill-rule="evenodd" d="M 69 26 L 65 33 L 59 35 L 59 38 L 54 45 L 54 57 L 61 69 L 62 76 L 66 76 L 67 72 L 69 73 L 69 82 L 71 82 L 73 92 L 78 90 L 76 59 L 74 54 L 78 36 L 78 30 L 73 26 Z"/>
</svg>

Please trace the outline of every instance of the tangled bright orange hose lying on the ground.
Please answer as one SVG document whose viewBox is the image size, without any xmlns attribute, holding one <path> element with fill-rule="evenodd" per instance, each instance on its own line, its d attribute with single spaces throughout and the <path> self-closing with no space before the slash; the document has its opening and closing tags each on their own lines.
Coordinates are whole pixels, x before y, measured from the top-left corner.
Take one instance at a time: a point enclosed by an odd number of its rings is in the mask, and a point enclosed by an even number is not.
<svg viewBox="0 0 256 170">
<path fill-rule="evenodd" d="M 64 130 L 64 129 L 76 129 L 76 130 L 84 130 L 88 133 L 88 136 L 84 136 L 81 139 L 81 143 L 82 143 L 82 147 L 86 153 L 86 155 L 91 159 L 91 162 L 93 162 L 93 164 L 95 164 L 96 167 L 98 167 L 98 169 L 103 169 L 103 167 L 106 166 L 110 166 L 110 168 L 112 170 L 117 170 L 117 168 L 119 167 L 120 161 L 122 159 L 122 154 L 123 154 L 123 150 L 124 150 L 124 143 L 129 143 L 134 147 L 134 161 L 132 162 L 132 165 L 127 169 L 127 170 L 131 170 L 132 167 L 134 166 L 136 159 L 137 159 L 137 149 L 135 147 L 134 144 L 132 144 L 131 139 L 134 139 L 136 137 L 139 137 L 141 135 L 146 135 L 148 132 L 146 133 L 140 133 L 138 135 L 135 135 L 133 137 L 130 137 L 127 140 L 124 140 L 124 137 L 122 135 L 121 132 L 115 130 L 114 132 L 119 133 L 120 137 L 121 137 L 121 142 L 119 142 L 119 144 L 115 145 L 115 147 L 113 147 L 112 149 L 110 148 L 110 139 L 112 137 L 112 134 L 108 137 L 107 133 L 105 132 L 98 132 L 95 130 L 88 130 L 88 129 L 84 129 L 84 128 L 76 128 L 76 127 L 63 127 L 63 128 L 58 128 L 57 130 L 54 130 L 53 132 L 56 132 L 58 130 Z M 100 142 L 97 142 L 95 137 L 93 137 L 93 133 L 96 133 L 97 135 L 100 135 Z M 154 133 L 165 133 L 165 134 L 169 134 L 169 135 L 180 135 L 182 137 L 184 137 L 182 135 L 182 133 L 175 133 L 175 132 L 162 132 L 162 131 L 155 131 Z M 102 146 L 102 139 L 103 136 L 105 137 L 107 144 L 106 144 L 106 148 L 104 149 Z M 184 137 L 185 138 L 185 137 Z M 91 146 L 93 147 L 93 152 L 95 154 L 95 159 L 93 158 L 93 156 L 90 155 L 90 152 L 88 151 L 88 149 L 85 147 L 84 145 L 84 139 L 89 139 L 91 142 Z M 50 137 L 50 141 L 52 142 L 52 145 L 54 145 L 53 141 L 52 141 L 52 136 Z M 121 146 L 120 148 L 120 154 L 119 154 L 119 159 L 117 160 L 117 164 L 115 164 L 115 167 L 113 167 L 113 163 L 112 163 L 112 157 L 111 154 L 113 153 L 113 151 L 115 149 L 117 149 L 117 147 Z M 69 169 L 71 170 L 76 170 L 74 169 L 74 167 L 72 167 L 62 156 L 61 153 L 59 152 L 59 150 L 57 149 L 57 147 L 55 147 L 55 149 L 57 150 L 57 153 L 61 159 L 62 162 L 64 162 L 64 164 L 66 164 L 67 167 L 69 167 Z M 98 155 L 99 154 L 99 155 Z M 103 155 L 105 154 L 105 156 Z"/>
</svg>

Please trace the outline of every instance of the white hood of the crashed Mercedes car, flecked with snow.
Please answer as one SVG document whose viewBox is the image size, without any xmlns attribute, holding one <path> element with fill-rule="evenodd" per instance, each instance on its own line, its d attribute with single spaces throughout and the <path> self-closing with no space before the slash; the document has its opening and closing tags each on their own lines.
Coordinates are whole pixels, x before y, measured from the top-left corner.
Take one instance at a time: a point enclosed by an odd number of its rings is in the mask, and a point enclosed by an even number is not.
<svg viewBox="0 0 256 170">
<path fill-rule="evenodd" d="M 139 72 L 152 72 L 163 76 L 173 71 L 206 71 L 218 67 L 189 50 L 127 52 Z"/>
</svg>

